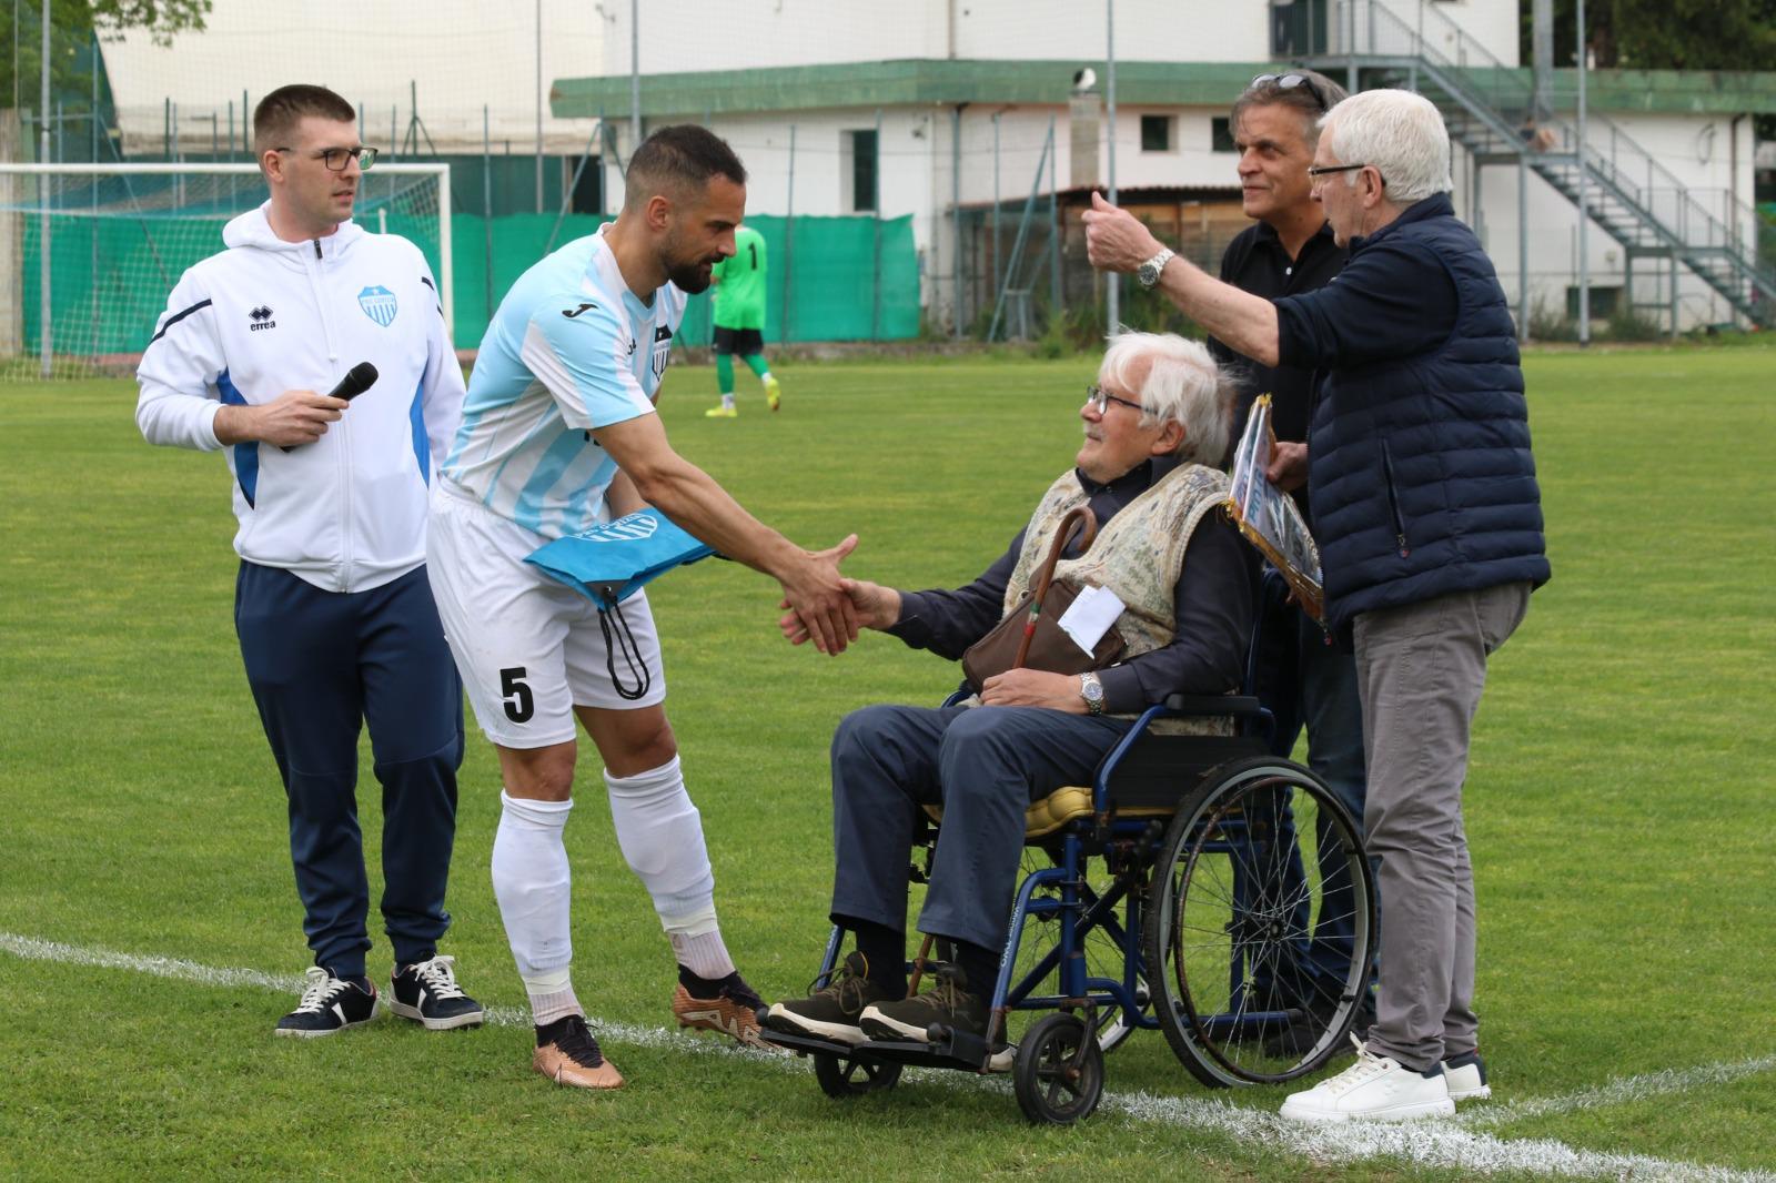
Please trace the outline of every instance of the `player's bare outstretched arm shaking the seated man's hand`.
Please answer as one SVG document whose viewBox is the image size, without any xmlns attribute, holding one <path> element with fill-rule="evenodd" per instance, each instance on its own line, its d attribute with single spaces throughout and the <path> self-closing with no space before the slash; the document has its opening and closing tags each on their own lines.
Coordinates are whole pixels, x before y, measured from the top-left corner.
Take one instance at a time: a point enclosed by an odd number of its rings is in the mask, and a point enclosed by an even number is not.
<svg viewBox="0 0 1776 1183">
<path fill-rule="evenodd" d="M 858 639 L 858 613 L 838 574 L 838 563 L 858 545 L 856 535 L 826 551 L 803 551 L 673 451 L 657 416 L 613 423 L 593 435 L 643 501 L 698 542 L 783 584 L 783 599 L 813 636 L 815 648 L 840 654 Z"/>
</svg>

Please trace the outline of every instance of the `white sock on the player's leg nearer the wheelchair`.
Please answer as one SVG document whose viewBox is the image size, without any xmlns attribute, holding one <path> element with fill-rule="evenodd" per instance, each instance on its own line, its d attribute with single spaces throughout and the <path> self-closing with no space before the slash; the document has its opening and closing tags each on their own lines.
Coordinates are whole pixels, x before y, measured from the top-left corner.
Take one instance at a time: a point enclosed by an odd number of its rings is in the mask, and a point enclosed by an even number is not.
<svg viewBox="0 0 1776 1183">
<path fill-rule="evenodd" d="M 703 846 L 703 821 L 684 790 L 678 757 L 634 776 L 604 774 L 611 794 L 611 822 L 616 844 L 654 899 L 654 911 L 670 938 L 702 938 L 716 933 L 716 876 L 709 867 L 709 847 Z M 709 956 L 707 941 L 696 954 L 698 965 L 726 965 L 723 977 L 733 972 L 726 949 Z M 678 941 L 673 941 L 678 952 Z M 694 965 L 686 968 L 698 977 L 710 977 Z"/>
</svg>

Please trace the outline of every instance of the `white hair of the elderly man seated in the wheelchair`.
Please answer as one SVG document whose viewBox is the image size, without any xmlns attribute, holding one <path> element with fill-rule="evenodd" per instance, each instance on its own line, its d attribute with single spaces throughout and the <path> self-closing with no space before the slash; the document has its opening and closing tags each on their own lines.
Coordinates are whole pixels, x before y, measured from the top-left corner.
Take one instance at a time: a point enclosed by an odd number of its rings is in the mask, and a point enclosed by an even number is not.
<svg viewBox="0 0 1776 1183">
<path fill-rule="evenodd" d="M 1146 368 L 1146 375 L 1140 369 Z M 1140 382 L 1133 382 L 1133 377 Z M 1110 337 L 1098 380 L 1114 380 L 1140 398 L 1140 426 L 1176 423 L 1185 428 L 1179 460 L 1218 465 L 1227 453 L 1233 382 L 1215 357 L 1170 332 L 1117 332 Z"/>
</svg>

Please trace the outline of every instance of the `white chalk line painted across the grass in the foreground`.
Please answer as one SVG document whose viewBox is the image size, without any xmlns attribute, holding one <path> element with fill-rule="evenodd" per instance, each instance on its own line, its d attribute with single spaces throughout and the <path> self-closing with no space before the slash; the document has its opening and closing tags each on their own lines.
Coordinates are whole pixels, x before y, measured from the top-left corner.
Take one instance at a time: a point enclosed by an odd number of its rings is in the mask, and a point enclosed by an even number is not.
<svg viewBox="0 0 1776 1183">
<path fill-rule="evenodd" d="M 282 993 L 297 993 L 302 979 L 259 970 L 208 966 L 179 957 L 151 957 L 114 952 L 85 945 L 66 945 L 14 933 L 0 933 L 0 952 L 27 961 L 55 961 L 105 970 L 131 970 L 204 986 L 254 986 Z M 529 1012 L 520 1007 L 488 1007 L 487 1021 L 494 1027 L 529 1027 Z M 767 1052 L 733 1048 L 728 1043 L 702 1039 L 659 1027 L 636 1027 L 588 1020 L 599 1036 L 627 1046 L 671 1048 L 686 1053 L 744 1055 L 762 1064 L 805 1071 L 797 1060 Z M 1698 1087 L 1728 1084 L 1744 1076 L 1776 1069 L 1776 1057 L 1758 1057 L 1732 1064 L 1709 1064 L 1687 1069 L 1668 1069 L 1613 1080 L 1595 1089 L 1568 1096 L 1533 1098 L 1510 1105 L 1467 1108 L 1456 1121 L 1419 1123 L 1346 1123 L 1337 1126 L 1304 1124 L 1236 1105 L 1227 1100 L 1201 1100 L 1153 1096 L 1147 1092 L 1105 1092 L 1103 1108 L 1128 1119 L 1153 1124 L 1181 1126 L 1218 1133 L 1236 1142 L 1298 1155 L 1320 1163 L 1350 1163 L 1378 1156 L 1394 1156 L 1424 1167 L 1440 1167 L 1474 1174 L 1542 1174 L 1561 1178 L 1613 1179 L 1671 1179 L 1673 1183 L 1776 1183 L 1776 1172 L 1735 1171 L 1707 1163 L 1673 1162 L 1645 1155 L 1613 1155 L 1575 1149 L 1552 1139 L 1510 1140 L 1485 1133 L 1526 1117 L 1566 1114 L 1584 1108 L 1604 1108 L 1625 1101 L 1639 1101 Z M 963 1073 L 929 1069 L 909 1073 L 922 1082 L 980 1087 L 964 1080 Z M 1007 1082 L 989 1082 L 1005 1089 Z"/>
</svg>

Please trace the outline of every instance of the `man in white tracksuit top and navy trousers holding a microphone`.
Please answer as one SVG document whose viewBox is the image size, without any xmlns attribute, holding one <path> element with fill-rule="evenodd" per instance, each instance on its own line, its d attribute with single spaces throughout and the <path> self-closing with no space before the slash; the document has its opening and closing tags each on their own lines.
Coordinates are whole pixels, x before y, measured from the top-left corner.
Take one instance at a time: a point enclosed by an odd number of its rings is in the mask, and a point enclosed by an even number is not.
<svg viewBox="0 0 1776 1183">
<path fill-rule="evenodd" d="M 464 380 L 414 243 L 352 222 L 377 160 L 352 105 L 288 85 L 252 115 L 270 199 L 179 279 L 142 353 L 151 444 L 222 449 L 234 478 L 234 629 L 289 803 L 314 954 L 279 1036 L 368 1023 L 369 883 L 357 822 L 364 723 L 382 785 L 391 1009 L 428 1030 L 480 1023 L 439 956 L 456 833 L 462 689 L 426 581 L 426 487 Z M 361 362 L 375 382 L 336 389 Z"/>
</svg>

